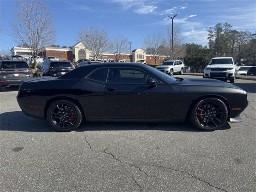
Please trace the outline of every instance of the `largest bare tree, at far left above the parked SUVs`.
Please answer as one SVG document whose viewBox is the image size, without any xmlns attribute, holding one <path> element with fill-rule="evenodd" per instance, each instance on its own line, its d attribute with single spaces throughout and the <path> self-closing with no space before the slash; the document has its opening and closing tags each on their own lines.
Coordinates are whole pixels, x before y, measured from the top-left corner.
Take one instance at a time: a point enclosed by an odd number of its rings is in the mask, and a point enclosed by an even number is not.
<svg viewBox="0 0 256 192">
<path fill-rule="evenodd" d="M 44 1 L 19 0 L 15 8 L 15 19 L 10 24 L 10 34 L 16 42 L 27 45 L 36 68 L 36 58 L 43 44 L 54 41 L 54 14 Z"/>
</svg>

